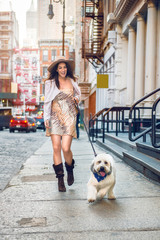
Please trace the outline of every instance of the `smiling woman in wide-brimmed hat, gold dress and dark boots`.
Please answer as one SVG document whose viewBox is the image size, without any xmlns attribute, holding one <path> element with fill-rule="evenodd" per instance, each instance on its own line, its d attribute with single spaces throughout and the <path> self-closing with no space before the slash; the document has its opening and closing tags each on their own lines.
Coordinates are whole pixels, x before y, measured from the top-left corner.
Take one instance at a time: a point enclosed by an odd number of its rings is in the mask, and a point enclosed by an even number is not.
<svg viewBox="0 0 160 240">
<path fill-rule="evenodd" d="M 71 152 L 72 138 L 76 138 L 75 103 L 79 103 L 80 89 L 73 76 L 74 62 L 64 57 L 57 58 L 48 68 L 45 81 L 44 122 L 46 136 L 51 136 L 53 168 L 58 178 L 58 189 L 65 192 L 64 170 L 61 149 L 65 159 L 68 185 L 74 182 L 74 159 Z"/>
</svg>

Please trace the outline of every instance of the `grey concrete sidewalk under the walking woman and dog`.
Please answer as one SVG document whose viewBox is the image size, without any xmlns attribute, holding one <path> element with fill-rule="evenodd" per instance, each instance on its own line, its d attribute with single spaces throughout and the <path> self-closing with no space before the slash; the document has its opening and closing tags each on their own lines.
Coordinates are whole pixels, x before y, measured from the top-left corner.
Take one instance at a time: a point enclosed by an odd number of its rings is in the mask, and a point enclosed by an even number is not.
<svg viewBox="0 0 160 240">
<path fill-rule="evenodd" d="M 94 157 L 85 132 L 73 140 L 75 183 L 57 190 L 49 138 L 0 194 L 0 239 L 160 239 L 160 186 L 115 157 L 115 201 L 87 202 Z M 104 150 L 96 147 L 97 153 Z M 65 178 L 66 182 L 66 178 Z"/>
</svg>

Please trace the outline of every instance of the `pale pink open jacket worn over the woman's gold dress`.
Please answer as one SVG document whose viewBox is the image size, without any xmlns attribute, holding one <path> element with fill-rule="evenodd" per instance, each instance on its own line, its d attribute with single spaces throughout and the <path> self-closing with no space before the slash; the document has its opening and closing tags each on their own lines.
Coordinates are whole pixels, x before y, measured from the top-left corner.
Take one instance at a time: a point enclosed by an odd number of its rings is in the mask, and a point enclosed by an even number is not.
<svg viewBox="0 0 160 240">
<path fill-rule="evenodd" d="M 73 88 L 75 90 L 75 97 L 80 100 L 81 91 L 78 87 L 78 84 L 71 79 Z M 60 90 L 57 88 L 55 80 L 47 80 L 45 81 L 45 100 L 44 100 L 44 121 L 50 119 L 51 117 L 51 103 L 53 99 L 57 96 Z"/>
</svg>

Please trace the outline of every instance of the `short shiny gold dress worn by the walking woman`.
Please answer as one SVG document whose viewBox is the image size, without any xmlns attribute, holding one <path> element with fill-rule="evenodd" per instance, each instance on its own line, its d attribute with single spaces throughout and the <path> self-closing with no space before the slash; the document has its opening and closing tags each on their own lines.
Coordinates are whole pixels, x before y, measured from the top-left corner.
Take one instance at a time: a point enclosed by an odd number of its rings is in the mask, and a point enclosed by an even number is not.
<svg viewBox="0 0 160 240">
<path fill-rule="evenodd" d="M 46 129 L 46 136 L 57 134 L 77 137 L 77 109 L 73 101 L 73 93 L 73 89 L 63 89 L 52 101 L 50 129 Z"/>
</svg>

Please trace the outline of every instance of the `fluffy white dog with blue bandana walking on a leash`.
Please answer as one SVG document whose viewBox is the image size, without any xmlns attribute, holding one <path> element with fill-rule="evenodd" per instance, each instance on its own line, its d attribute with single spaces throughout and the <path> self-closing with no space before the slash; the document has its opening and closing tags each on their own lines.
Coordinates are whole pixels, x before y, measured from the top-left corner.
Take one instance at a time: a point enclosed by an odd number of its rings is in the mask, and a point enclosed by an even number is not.
<svg viewBox="0 0 160 240">
<path fill-rule="evenodd" d="M 107 193 L 108 199 L 115 199 L 113 188 L 116 183 L 116 170 L 110 154 L 98 154 L 91 165 L 91 178 L 88 181 L 88 202 L 101 200 Z"/>
</svg>

